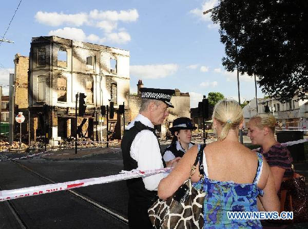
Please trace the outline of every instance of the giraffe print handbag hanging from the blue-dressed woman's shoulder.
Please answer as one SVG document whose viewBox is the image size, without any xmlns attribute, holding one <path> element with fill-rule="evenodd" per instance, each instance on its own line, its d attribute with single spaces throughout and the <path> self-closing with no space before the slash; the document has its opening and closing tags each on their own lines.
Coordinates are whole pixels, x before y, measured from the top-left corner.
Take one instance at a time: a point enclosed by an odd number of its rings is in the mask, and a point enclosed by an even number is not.
<svg viewBox="0 0 308 229">
<path fill-rule="evenodd" d="M 166 201 L 158 199 L 148 210 L 149 219 L 155 228 L 160 229 L 199 229 L 203 228 L 203 149 L 204 145 L 198 145 L 198 155 L 190 170 L 189 178 Z M 195 189 L 190 177 L 195 173 L 199 163 L 201 189 Z"/>
</svg>

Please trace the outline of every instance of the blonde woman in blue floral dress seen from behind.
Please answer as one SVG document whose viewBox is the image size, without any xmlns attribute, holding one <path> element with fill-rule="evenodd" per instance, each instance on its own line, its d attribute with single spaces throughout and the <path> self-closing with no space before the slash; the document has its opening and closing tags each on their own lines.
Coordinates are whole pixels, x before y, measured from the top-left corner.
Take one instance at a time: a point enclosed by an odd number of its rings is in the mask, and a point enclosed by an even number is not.
<svg viewBox="0 0 308 229">
<path fill-rule="evenodd" d="M 279 211 L 273 175 L 260 153 L 240 144 L 242 109 L 234 100 L 221 100 L 213 112 L 218 140 L 204 149 L 204 228 L 262 228 L 259 220 L 229 220 L 227 212 L 257 212 L 257 197 L 265 211 Z M 162 199 L 170 197 L 189 177 L 197 157 L 197 146 L 184 154 L 176 168 L 158 187 Z M 198 170 L 192 181 L 199 180 Z"/>
</svg>

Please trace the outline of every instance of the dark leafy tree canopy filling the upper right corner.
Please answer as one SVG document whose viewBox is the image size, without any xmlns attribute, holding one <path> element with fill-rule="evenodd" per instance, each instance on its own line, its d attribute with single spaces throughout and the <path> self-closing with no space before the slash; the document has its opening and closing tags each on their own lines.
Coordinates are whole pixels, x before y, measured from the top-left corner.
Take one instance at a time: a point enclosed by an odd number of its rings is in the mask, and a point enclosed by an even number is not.
<svg viewBox="0 0 308 229">
<path fill-rule="evenodd" d="M 227 71 L 256 74 L 262 92 L 281 102 L 308 98 L 308 1 L 220 0 L 212 20 Z"/>
</svg>

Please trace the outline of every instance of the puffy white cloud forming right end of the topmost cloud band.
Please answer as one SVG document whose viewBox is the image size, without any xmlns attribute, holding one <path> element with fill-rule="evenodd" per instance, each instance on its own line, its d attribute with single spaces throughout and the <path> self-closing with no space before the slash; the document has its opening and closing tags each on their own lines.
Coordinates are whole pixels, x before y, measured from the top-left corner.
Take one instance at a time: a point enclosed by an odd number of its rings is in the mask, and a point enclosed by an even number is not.
<svg viewBox="0 0 308 229">
<path fill-rule="evenodd" d="M 90 11 L 89 16 L 93 19 L 99 20 L 122 20 L 123 22 L 135 22 L 138 19 L 139 14 L 136 9 L 121 10 L 120 12 L 111 10 L 99 11 L 95 9 Z"/>
</svg>

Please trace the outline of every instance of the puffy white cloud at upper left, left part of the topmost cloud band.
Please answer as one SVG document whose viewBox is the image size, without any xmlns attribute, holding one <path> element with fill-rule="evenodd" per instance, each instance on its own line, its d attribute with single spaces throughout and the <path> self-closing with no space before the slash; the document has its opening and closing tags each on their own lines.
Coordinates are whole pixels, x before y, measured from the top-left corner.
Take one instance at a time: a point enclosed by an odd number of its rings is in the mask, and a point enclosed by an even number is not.
<svg viewBox="0 0 308 229">
<path fill-rule="evenodd" d="M 34 17 L 38 23 L 48 26 L 61 26 L 64 24 L 71 26 L 82 26 L 88 20 L 88 15 L 86 13 L 64 14 L 38 11 Z"/>
</svg>

